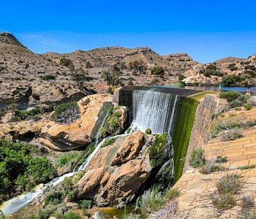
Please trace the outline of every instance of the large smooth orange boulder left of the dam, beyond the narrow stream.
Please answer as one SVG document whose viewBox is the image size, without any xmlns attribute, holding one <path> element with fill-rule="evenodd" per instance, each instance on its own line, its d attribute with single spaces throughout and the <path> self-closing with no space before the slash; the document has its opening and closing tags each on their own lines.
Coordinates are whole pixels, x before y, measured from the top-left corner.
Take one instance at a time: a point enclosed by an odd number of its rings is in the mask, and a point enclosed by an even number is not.
<svg viewBox="0 0 256 219">
<path fill-rule="evenodd" d="M 53 150 L 74 150 L 89 145 L 91 143 L 91 131 L 97 122 L 102 104 L 109 99 L 110 96 L 107 94 L 84 97 L 78 101 L 80 118 L 71 124 L 51 121 L 42 128 L 40 137 L 48 140 L 42 142 Z"/>
</svg>

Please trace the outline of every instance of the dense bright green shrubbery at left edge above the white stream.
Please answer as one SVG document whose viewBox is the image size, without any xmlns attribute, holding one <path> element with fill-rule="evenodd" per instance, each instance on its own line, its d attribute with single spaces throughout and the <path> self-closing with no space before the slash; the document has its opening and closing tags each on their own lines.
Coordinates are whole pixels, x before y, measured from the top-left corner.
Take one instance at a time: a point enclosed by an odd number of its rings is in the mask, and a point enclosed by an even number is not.
<svg viewBox="0 0 256 219">
<path fill-rule="evenodd" d="M 23 143 L 0 140 L 0 202 L 53 179 L 56 170 L 48 158 L 32 157 Z"/>
</svg>

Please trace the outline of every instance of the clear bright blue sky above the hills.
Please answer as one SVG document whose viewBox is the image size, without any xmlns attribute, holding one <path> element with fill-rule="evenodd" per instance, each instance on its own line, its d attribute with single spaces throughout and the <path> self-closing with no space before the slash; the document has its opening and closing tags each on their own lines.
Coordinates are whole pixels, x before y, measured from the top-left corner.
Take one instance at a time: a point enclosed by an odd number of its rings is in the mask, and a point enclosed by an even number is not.
<svg viewBox="0 0 256 219">
<path fill-rule="evenodd" d="M 147 46 L 204 63 L 256 53 L 255 0 L 5 0 L 0 8 L 0 31 L 35 53 Z"/>
</svg>

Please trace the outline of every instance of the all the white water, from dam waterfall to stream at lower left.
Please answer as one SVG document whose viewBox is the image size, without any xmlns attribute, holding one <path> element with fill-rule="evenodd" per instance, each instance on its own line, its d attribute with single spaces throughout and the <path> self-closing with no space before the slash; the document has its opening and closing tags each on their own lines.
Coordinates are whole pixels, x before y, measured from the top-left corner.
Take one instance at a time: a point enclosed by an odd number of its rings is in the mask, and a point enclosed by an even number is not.
<svg viewBox="0 0 256 219">
<path fill-rule="evenodd" d="M 42 195 L 46 188 L 54 187 L 59 185 L 65 177 L 71 177 L 78 172 L 86 169 L 91 159 L 97 153 L 99 148 L 104 144 L 107 139 L 110 138 L 118 138 L 127 136 L 128 133 L 132 133 L 140 129 L 141 131 L 145 131 L 146 128 L 151 128 L 151 131 L 155 134 L 168 134 L 168 144 L 171 146 L 171 139 L 170 139 L 170 131 L 173 126 L 173 118 L 176 111 L 176 104 L 178 101 L 178 96 L 173 95 L 170 93 L 161 93 L 155 91 L 133 91 L 132 92 L 132 125 L 128 128 L 126 134 L 117 135 L 115 137 L 108 137 L 102 140 L 98 144 L 99 141 L 99 131 L 97 133 L 97 139 L 95 144 L 95 149 L 91 155 L 86 159 L 86 161 L 79 167 L 78 170 L 74 170 L 74 172 L 64 174 L 61 177 L 56 177 L 41 187 L 37 187 L 34 191 L 29 193 L 25 193 L 21 196 L 15 197 L 10 199 L 9 201 L 4 202 L 0 210 L 4 212 L 6 215 L 10 215 L 14 212 L 20 210 L 20 208 L 25 207 L 29 204 L 33 199 Z M 105 120 L 108 118 L 108 114 L 105 116 L 104 120 L 102 121 L 101 126 L 104 125 Z M 170 153 L 173 153 L 173 150 L 170 150 Z M 173 155 L 170 154 L 170 158 Z M 171 173 L 173 174 L 173 172 Z"/>
</svg>

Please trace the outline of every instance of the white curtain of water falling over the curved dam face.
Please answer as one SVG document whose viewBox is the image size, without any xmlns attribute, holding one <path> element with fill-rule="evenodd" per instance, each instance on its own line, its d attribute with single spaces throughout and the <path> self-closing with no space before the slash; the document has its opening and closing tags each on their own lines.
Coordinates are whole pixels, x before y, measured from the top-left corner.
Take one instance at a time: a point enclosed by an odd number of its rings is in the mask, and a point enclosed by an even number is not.
<svg viewBox="0 0 256 219">
<path fill-rule="evenodd" d="M 153 133 L 170 134 L 176 110 L 177 95 L 155 91 L 132 92 L 133 123 L 140 130 L 151 128 Z"/>
</svg>

